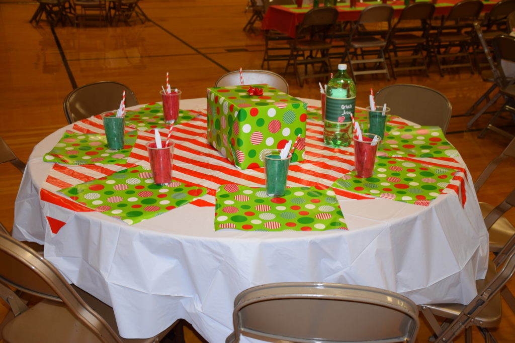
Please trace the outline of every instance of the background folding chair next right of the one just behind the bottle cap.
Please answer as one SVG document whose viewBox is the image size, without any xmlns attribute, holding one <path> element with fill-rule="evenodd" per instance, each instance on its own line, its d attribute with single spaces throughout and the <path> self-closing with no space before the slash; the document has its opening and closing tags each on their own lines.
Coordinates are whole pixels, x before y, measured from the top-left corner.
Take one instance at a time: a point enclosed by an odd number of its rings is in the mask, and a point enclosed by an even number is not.
<svg viewBox="0 0 515 343">
<path fill-rule="evenodd" d="M 402 70 L 423 70 L 429 76 L 424 48 L 434 12 L 435 5 L 429 2 L 414 3 L 402 10 L 399 20 L 391 28 L 386 47 L 393 78 L 397 78 L 396 71 Z M 401 66 L 401 61 L 409 62 L 409 65 Z"/>
</svg>

